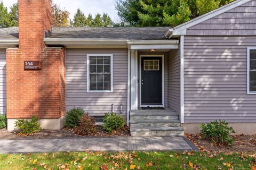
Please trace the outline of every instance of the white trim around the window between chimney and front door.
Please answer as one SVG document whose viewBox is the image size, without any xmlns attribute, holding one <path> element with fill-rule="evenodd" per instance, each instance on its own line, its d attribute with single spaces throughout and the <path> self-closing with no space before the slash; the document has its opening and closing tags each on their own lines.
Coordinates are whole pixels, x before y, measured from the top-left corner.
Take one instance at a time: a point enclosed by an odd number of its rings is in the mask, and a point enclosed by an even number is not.
<svg viewBox="0 0 256 170">
<path fill-rule="evenodd" d="M 89 78 L 89 72 L 90 72 L 90 57 L 99 57 L 99 56 L 110 56 L 110 81 L 111 81 L 111 90 L 110 91 L 105 91 L 105 90 L 97 90 L 97 91 L 90 91 L 90 78 Z M 87 92 L 95 92 L 95 93 L 108 93 L 108 92 L 113 92 L 113 54 L 87 54 Z"/>
</svg>

